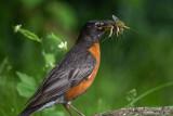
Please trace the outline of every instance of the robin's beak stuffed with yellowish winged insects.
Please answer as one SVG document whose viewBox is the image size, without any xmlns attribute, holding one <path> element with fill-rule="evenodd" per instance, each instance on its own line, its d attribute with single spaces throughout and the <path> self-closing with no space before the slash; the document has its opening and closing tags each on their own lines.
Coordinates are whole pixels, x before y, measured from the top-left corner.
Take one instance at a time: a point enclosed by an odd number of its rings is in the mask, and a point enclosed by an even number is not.
<svg viewBox="0 0 173 116">
<path fill-rule="evenodd" d="M 99 29 L 104 31 L 109 31 L 109 37 L 111 37 L 114 34 L 119 36 L 123 33 L 124 29 L 130 29 L 122 21 L 120 21 L 118 17 L 112 15 L 112 21 L 103 21 L 99 24 Z"/>
</svg>

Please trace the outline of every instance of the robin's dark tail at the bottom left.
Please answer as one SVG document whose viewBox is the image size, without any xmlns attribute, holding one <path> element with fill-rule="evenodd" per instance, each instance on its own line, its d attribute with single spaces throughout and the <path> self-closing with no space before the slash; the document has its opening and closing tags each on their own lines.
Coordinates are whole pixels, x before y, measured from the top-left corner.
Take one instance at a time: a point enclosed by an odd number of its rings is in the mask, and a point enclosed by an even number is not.
<svg viewBox="0 0 173 116">
<path fill-rule="evenodd" d="M 39 106 L 29 107 L 29 108 L 26 107 L 18 116 L 30 116 L 30 114 L 38 111 L 39 108 L 40 108 Z"/>
</svg>

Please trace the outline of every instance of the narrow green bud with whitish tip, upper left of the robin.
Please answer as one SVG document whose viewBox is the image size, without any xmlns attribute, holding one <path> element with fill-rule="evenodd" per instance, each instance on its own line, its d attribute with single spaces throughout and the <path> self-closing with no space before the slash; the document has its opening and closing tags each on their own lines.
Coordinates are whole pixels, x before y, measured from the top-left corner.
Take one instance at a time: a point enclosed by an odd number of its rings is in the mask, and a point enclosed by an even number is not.
<svg viewBox="0 0 173 116">
<path fill-rule="evenodd" d="M 22 28 L 22 25 L 16 25 L 14 27 L 14 31 L 15 33 L 21 33 L 27 39 L 30 39 L 30 40 L 34 40 L 34 41 L 37 41 L 37 42 L 41 42 L 41 39 L 36 34 L 34 34 L 34 33 L 31 33 L 27 29 Z"/>
</svg>

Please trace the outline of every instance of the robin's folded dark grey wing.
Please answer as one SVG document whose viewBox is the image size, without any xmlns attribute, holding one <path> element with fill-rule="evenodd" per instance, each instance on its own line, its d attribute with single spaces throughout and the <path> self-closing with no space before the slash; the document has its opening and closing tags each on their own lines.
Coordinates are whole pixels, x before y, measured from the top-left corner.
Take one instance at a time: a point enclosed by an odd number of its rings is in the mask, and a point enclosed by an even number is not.
<svg viewBox="0 0 173 116">
<path fill-rule="evenodd" d="M 88 51 L 69 52 L 55 67 L 29 102 L 29 107 L 56 100 L 71 87 L 85 79 L 95 66 L 95 59 Z"/>
</svg>

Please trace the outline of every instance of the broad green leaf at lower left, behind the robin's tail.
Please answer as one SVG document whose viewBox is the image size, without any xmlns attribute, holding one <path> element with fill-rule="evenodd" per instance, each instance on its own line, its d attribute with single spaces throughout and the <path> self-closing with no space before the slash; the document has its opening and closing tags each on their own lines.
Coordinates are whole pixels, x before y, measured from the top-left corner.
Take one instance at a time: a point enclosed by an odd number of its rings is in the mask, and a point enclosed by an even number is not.
<svg viewBox="0 0 173 116">
<path fill-rule="evenodd" d="M 24 98 L 31 96 L 36 90 L 36 80 L 32 77 L 19 72 L 16 72 L 16 75 L 21 80 L 16 86 L 18 94 Z"/>
</svg>

